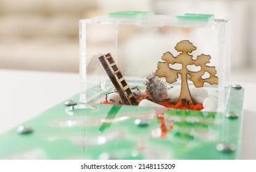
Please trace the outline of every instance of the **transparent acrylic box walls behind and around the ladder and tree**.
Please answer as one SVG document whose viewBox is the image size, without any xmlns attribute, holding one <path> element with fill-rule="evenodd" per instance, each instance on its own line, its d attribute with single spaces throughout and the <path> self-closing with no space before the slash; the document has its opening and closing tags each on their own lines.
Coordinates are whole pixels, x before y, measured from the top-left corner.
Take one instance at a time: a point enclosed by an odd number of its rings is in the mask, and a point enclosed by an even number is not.
<svg viewBox="0 0 256 172">
<path fill-rule="evenodd" d="M 188 40 L 196 50 L 190 55 L 210 55 L 207 66 L 215 66 L 218 85 L 204 87 L 218 94 L 218 111 L 226 108 L 230 75 L 230 22 L 214 18 L 213 15 L 187 14 L 183 16 L 153 15 L 151 12 L 121 12 L 101 17 L 80 20 L 80 101 L 100 103 L 114 86 L 102 68 L 98 57 L 111 53 L 130 87 L 143 90 L 146 77 L 157 70 L 163 53 L 174 57 L 181 52 L 175 50 L 178 42 Z M 179 69 L 180 66 L 169 65 Z M 190 71 L 200 71 L 195 65 Z M 207 79 L 205 73 L 202 78 Z M 168 84 L 180 85 L 178 82 Z M 165 81 L 165 77 L 162 77 Z M 188 80 L 188 84 L 192 82 Z"/>
</svg>

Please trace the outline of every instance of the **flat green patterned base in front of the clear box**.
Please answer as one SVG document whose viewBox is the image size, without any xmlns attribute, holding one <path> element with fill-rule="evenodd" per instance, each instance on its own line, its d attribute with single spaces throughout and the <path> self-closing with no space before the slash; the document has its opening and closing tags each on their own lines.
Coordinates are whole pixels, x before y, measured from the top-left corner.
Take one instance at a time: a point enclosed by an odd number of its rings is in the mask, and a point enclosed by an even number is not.
<svg viewBox="0 0 256 172">
<path fill-rule="evenodd" d="M 0 158 L 236 159 L 244 89 L 230 89 L 226 114 L 63 102 L 24 123 L 33 132 L 2 135 Z"/>
</svg>

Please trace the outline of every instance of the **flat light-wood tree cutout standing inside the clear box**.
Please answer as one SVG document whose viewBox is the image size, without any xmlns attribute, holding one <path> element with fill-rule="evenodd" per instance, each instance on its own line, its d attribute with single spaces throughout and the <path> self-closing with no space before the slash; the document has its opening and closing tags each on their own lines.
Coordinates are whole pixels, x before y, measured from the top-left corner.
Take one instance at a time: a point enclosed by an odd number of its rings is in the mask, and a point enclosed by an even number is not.
<svg viewBox="0 0 256 172">
<path fill-rule="evenodd" d="M 175 46 L 175 50 L 181 52 L 177 57 L 173 57 L 170 52 L 163 53 L 162 60 L 165 62 L 160 62 L 157 65 L 157 71 L 155 71 L 155 76 L 165 77 L 168 83 L 176 82 L 178 79 L 178 74 L 181 75 L 181 93 L 179 101 L 185 102 L 186 104 L 192 104 L 191 93 L 189 92 L 187 76 L 189 75 L 189 80 L 193 82 L 195 87 L 203 87 L 204 83 L 218 84 L 218 77 L 215 76 L 217 71 L 215 66 L 207 66 L 210 63 L 210 55 L 201 54 L 197 56 L 196 60 L 192 59 L 192 51 L 196 50 L 196 47 L 188 40 L 183 40 L 178 42 Z M 170 68 L 171 65 L 176 63 L 181 64 L 182 68 L 180 70 Z M 188 65 L 200 66 L 200 71 L 189 71 Z M 209 78 L 203 79 L 202 76 L 208 72 L 210 74 Z"/>
</svg>

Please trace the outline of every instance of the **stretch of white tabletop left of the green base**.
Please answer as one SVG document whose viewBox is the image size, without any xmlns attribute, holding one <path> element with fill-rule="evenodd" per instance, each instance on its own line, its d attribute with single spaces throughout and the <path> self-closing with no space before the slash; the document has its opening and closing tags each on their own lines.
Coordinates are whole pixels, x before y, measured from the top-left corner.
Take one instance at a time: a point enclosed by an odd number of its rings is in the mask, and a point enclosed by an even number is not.
<svg viewBox="0 0 256 172">
<path fill-rule="evenodd" d="M 79 92 L 79 74 L 0 69 L 0 135 Z"/>
</svg>

